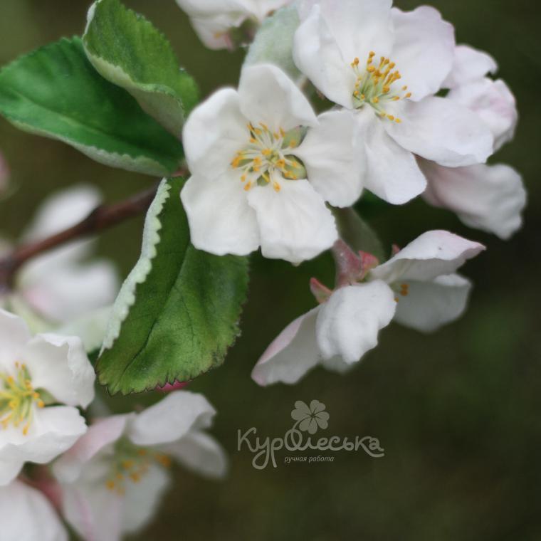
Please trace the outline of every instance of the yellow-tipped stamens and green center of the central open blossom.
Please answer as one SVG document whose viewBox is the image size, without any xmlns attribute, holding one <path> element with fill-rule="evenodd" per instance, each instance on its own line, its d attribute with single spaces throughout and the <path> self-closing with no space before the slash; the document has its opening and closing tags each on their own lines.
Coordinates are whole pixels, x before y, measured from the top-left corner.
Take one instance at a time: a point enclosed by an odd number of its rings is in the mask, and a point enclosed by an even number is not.
<svg viewBox="0 0 541 541">
<path fill-rule="evenodd" d="M 248 124 L 248 132 L 248 145 L 239 150 L 231 162 L 233 169 L 239 169 L 246 191 L 256 184 L 272 184 L 275 191 L 280 191 L 284 180 L 297 180 L 305 176 L 300 159 L 290 154 L 291 149 L 298 146 L 295 137 L 288 137 L 281 128 L 273 132 L 263 122 L 259 123 L 259 127 Z"/>
</svg>

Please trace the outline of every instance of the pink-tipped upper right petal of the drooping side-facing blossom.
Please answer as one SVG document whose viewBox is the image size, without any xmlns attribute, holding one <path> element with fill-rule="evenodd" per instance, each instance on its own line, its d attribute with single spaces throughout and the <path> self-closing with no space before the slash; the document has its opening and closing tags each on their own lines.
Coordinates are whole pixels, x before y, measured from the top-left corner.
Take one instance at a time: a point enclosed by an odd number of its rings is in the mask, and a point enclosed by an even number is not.
<svg viewBox="0 0 541 541">
<path fill-rule="evenodd" d="M 373 278 L 394 283 L 398 280 L 434 280 L 451 274 L 485 247 L 448 231 L 427 231 L 370 273 Z"/>
</svg>

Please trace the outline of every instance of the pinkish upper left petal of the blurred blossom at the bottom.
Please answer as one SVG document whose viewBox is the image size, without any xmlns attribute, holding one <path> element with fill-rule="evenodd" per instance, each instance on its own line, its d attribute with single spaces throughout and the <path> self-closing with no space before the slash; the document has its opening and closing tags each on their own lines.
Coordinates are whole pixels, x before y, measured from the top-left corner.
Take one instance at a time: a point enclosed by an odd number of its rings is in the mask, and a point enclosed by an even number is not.
<svg viewBox="0 0 541 541">
<path fill-rule="evenodd" d="M 95 421 L 86 434 L 53 465 L 53 473 L 61 483 L 73 483 L 80 478 L 86 465 L 98 453 L 110 448 L 125 433 L 128 421 L 135 414 L 114 415 Z"/>
</svg>

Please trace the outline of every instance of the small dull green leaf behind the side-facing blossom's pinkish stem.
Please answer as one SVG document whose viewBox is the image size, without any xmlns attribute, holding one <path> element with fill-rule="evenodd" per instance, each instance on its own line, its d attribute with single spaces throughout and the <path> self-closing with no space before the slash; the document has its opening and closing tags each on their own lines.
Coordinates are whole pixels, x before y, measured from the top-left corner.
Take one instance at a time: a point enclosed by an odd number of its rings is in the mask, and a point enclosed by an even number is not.
<svg viewBox="0 0 541 541">
<path fill-rule="evenodd" d="M 387 260 L 377 233 L 352 209 L 333 209 L 340 238 L 354 251 L 372 253 L 379 261 Z"/>
</svg>

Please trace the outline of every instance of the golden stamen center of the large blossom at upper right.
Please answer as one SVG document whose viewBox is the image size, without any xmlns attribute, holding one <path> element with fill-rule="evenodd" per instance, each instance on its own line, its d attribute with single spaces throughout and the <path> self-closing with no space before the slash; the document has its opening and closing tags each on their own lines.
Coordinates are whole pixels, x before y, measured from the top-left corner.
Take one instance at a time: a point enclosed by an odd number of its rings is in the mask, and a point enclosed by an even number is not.
<svg viewBox="0 0 541 541">
<path fill-rule="evenodd" d="M 389 115 L 385 110 L 385 105 L 391 102 L 411 98 L 411 92 L 404 95 L 396 88 L 396 81 L 401 79 L 399 70 L 395 70 L 394 62 L 389 58 L 382 56 L 379 65 L 374 64 L 376 53 L 371 51 L 364 68 L 359 67 L 359 58 L 355 58 L 351 63 L 357 82 L 353 91 L 353 101 L 357 109 L 363 105 L 370 105 L 381 117 L 387 118 L 392 122 L 400 123 L 401 120 L 394 115 Z M 406 92 L 407 86 L 401 87 L 401 92 Z"/>
</svg>

